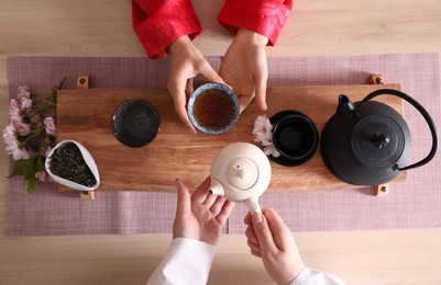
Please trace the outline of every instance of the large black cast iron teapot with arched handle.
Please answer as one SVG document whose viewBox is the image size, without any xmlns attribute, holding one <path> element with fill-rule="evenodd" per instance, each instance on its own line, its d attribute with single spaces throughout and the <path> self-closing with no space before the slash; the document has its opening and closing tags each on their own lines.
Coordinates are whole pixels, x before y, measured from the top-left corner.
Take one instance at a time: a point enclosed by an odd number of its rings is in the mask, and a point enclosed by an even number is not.
<svg viewBox="0 0 441 285">
<path fill-rule="evenodd" d="M 383 94 L 406 100 L 429 125 L 432 148 L 419 162 L 406 166 L 411 152 L 411 136 L 405 119 L 393 107 L 371 101 Z M 393 89 L 374 91 L 355 103 L 346 95 L 340 95 L 337 113 L 326 124 L 320 141 L 321 156 L 331 173 L 354 185 L 383 184 L 403 170 L 429 162 L 437 148 L 437 129 L 429 113 L 415 99 Z"/>
</svg>

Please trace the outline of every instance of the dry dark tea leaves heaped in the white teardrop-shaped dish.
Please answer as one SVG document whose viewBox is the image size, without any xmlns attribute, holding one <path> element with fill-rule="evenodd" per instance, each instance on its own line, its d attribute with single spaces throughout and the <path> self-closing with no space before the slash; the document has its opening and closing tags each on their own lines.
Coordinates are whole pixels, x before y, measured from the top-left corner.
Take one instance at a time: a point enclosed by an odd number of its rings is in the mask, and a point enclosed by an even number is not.
<svg viewBox="0 0 441 285">
<path fill-rule="evenodd" d="M 81 151 L 74 142 L 66 142 L 54 151 L 51 156 L 51 171 L 57 176 L 88 187 L 97 183 Z"/>
</svg>

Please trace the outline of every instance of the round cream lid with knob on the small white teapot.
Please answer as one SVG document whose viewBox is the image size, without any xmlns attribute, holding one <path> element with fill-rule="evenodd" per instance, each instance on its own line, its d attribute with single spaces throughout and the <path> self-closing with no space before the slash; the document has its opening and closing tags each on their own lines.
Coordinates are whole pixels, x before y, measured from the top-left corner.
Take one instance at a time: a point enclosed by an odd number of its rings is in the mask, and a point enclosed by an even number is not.
<svg viewBox="0 0 441 285">
<path fill-rule="evenodd" d="M 235 158 L 227 167 L 227 181 L 236 190 L 251 189 L 257 180 L 258 168 L 249 158 Z"/>
</svg>

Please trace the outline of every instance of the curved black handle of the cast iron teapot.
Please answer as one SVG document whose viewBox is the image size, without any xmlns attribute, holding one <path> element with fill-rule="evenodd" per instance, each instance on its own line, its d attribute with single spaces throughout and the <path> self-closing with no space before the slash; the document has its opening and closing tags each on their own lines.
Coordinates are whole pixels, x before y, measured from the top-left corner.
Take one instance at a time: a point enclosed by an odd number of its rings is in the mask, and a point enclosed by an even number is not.
<svg viewBox="0 0 441 285">
<path fill-rule="evenodd" d="M 437 127 L 434 126 L 434 122 L 433 122 L 432 117 L 429 115 L 429 113 L 426 111 L 426 109 L 420 103 L 418 103 L 418 101 L 416 101 L 414 98 L 411 98 L 408 94 L 406 94 L 401 91 L 398 91 L 398 90 L 379 89 L 379 90 L 372 92 L 365 99 L 363 99 L 362 102 L 360 102 L 360 104 L 356 107 L 360 107 L 363 103 L 372 100 L 375 96 L 383 95 L 383 94 L 390 94 L 390 95 L 399 96 L 403 100 L 410 103 L 415 109 L 417 109 L 421 113 L 422 117 L 426 119 L 427 124 L 429 125 L 430 133 L 432 134 L 432 149 L 430 150 L 429 155 L 426 158 L 423 158 L 422 160 L 420 160 L 414 164 L 404 167 L 404 168 L 395 166 L 396 170 L 401 171 L 401 170 L 414 169 L 414 168 L 418 168 L 418 167 L 421 167 L 421 166 L 428 163 L 430 160 L 432 160 L 432 158 L 437 153 L 437 149 L 438 149 Z"/>
</svg>

